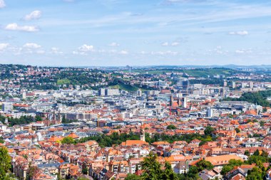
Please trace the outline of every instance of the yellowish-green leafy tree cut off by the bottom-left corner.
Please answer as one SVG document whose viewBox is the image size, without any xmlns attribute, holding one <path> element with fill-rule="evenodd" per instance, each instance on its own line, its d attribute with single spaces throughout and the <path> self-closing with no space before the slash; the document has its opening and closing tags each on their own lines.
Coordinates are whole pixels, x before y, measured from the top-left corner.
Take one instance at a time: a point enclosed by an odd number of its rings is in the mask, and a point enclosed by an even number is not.
<svg viewBox="0 0 271 180">
<path fill-rule="evenodd" d="M 0 179 L 9 179 L 7 173 L 11 169 L 11 157 L 6 147 L 0 148 Z"/>
</svg>

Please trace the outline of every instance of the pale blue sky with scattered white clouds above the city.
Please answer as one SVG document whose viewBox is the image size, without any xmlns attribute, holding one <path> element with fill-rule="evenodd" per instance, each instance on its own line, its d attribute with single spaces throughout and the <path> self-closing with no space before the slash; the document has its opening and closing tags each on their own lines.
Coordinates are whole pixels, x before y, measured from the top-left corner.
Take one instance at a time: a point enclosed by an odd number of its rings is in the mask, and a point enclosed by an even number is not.
<svg viewBox="0 0 271 180">
<path fill-rule="evenodd" d="M 0 63 L 271 64 L 271 1 L 0 0 Z"/>
</svg>

